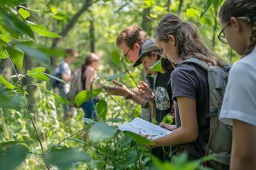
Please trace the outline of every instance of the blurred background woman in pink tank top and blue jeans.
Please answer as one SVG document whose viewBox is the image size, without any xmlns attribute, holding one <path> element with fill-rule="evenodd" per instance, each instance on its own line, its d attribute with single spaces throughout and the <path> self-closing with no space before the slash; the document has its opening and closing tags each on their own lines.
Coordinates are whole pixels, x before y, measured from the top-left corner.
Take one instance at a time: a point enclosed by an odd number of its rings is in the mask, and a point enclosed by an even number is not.
<svg viewBox="0 0 256 170">
<path fill-rule="evenodd" d="M 96 71 L 99 63 L 99 56 L 90 53 L 84 59 L 84 64 L 81 67 L 82 85 L 84 90 L 90 91 L 91 82 L 95 81 Z M 84 117 L 96 120 L 96 102 L 97 97 L 84 102 L 81 107 L 84 110 Z"/>
</svg>

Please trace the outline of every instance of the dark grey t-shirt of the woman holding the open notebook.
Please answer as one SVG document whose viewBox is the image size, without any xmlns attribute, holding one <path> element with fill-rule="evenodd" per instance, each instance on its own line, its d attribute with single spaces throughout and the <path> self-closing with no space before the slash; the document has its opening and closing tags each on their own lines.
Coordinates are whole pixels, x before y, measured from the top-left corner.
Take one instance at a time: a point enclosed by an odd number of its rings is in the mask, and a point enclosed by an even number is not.
<svg viewBox="0 0 256 170">
<path fill-rule="evenodd" d="M 199 136 L 205 142 L 209 139 L 209 120 L 204 118 L 209 110 L 209 86 L 207 71 L 193 64 L 179 65 L 171 76 L 172 99 L 176 104 L 176 124 L 181 126 L 177 97 L 188 97 L 196 101 L 196 116 L 198 120 Z M 189 114 L 186 113 L 186 114 Z M 205 152 L 198 140 L 189 144 L 179 144 L 177 150 L 188 151 L 189 160 L 195 160 L 204 156 Z"/>
</svg>

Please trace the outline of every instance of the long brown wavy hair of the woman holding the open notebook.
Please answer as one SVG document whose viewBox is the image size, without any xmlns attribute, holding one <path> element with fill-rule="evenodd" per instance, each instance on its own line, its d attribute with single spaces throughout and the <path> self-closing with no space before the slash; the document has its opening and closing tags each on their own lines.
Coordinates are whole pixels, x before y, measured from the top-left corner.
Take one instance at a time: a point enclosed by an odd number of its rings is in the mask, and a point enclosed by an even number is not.
<svg viewBox="0 0 256 170">
<path fill-rule="evenodd" d="M 174 14 L 166 14 L 155 31 L 155 38 L 163 42 L 168 42 L 170 35 L 175 37 L 177 54 L 181 59 L 196 57 L 209 65 L 224 65 L 224 61 L 201 42 L 195 26 Z"/>
</svg>

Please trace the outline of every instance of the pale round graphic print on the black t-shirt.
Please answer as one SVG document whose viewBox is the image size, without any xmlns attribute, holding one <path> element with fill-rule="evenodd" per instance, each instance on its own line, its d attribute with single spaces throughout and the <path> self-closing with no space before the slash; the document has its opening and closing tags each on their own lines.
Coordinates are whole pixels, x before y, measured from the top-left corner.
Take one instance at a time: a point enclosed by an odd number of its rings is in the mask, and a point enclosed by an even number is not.
<svg viewBox="0 0 256 170">
<path fill-rule="evenodd" d="M 166 110 L 170 108 L 170 97 L 166 88 L 157 87 L 154 90 L 154 101 L 156 108 L 159 110 Z"/>
</svg>

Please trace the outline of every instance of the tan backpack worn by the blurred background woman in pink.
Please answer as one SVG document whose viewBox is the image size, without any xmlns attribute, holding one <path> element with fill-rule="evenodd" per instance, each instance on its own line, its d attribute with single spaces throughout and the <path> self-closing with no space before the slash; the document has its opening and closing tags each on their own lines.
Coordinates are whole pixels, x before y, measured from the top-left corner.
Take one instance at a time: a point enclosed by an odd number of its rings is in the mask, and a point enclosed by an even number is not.
<svg viewBox="0 0 256 170">
<path fill-rule="evenodd" d="M 67 99 L 70 101 L 72 105 L 74 104 L 74 99 L 80 91 L 83 90 L 83 81 L 82 81 L 82 73 L 81 71 L 75 71 L 73 75 L 73 79 L 71 81 L 70 90 L 67 94 Z"/>
</svg>

